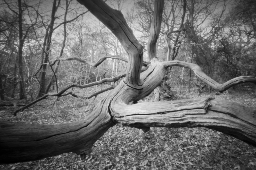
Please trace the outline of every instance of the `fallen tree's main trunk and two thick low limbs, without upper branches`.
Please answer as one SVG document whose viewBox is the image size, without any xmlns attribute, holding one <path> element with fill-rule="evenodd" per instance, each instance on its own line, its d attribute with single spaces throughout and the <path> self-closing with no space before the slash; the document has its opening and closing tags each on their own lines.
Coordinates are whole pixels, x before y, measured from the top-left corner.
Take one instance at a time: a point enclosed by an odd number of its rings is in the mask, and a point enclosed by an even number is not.
<svg viewBox="0 0 256 170">
<path fill-rule="evenodd" d="M 116 123 L 142 129 L 203 126 L 256 146 L 255 111 L 237 103 L 201 97 L 132 104 L 156 88 L 165 73 L 166 67 L 152 60 L 148 70 L 141 74 L 144 84 L 140 89 L 121 81 L 90 115 L 78 122 L 59 125 L 0 122 L 1 163 L 38 160 L 66 152 L 84 158 L 93 143 Z"/>
</svg>

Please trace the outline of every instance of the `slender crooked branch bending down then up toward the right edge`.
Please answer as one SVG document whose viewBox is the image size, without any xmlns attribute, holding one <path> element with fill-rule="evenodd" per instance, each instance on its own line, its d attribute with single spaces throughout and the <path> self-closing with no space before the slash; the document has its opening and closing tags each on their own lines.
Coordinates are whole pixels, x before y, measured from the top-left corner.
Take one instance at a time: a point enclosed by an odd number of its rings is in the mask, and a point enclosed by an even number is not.
<svg viewBox="0 0 256 170">
<path fill-rule="evenodd" d="M 237 85 L 237 84 L 240 84 L 240 83 L 245 83 L 245 82 L 256 83 L 255 76 L 239 76 L 239 77 L 233 78 L 233 79 L 231 79 L 231 80 L 229 80 L 229 81 L 227 81 L 223 84 L 219 84 L 215 80 L 208 77 L 204 72 L 202 72 L 200 67 L 196 64 L 188 63 L 188 62 L 184 62 L 184 61 L 178 61 L 178 60 L 166 61 L 166 62 L 163 62 L 163 64 L 166 67 L 168 67 L 168 66 L 179 66 L 179 67 L 189 68 L 189 69 L 193 70 L 195 72 L 195 74 L 202 81 L 204 81 L 206 84 L 208 84 L 209 86 L 213 87 L 214 89 L 216 89 L 220 92 L 223 92 L 223 91 L 229 89 L 230 87 L 232 87 L 234 85 Z"/>
</svg>

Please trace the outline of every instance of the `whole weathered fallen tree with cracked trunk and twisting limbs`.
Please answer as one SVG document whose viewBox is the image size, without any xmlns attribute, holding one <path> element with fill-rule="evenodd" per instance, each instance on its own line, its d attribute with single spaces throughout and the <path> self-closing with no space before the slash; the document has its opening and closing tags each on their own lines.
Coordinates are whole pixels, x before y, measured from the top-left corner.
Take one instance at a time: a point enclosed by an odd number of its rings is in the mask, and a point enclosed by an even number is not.
<svg viewBox="0 0 256 170">
<path fill-rule="evenodd" d="M 33 161 L 67 152 L 79 154 L 82 159 L 86 158 L 94 142 L 117 123 L 144 131 L 152 126 L 207 127 L 256 146 L 255 111 L 242 105 L 213 97 L 137 103 L 162 82 L 170 66 L 192 69 L 204 82 L 219 91 L 242 82 L 256 83 L 255 77 L 238 77 L 219 84 L 206 76 L 195 64 L 180 61 L 159 62 L 157 58 L 153 58 L 148 69 L 141 72 L 143 46 L 136 40 L 121 12 L 110 8 L 101 0 L 78 2 L 114 33 L 129 54 L 126 76 L 83 120 L 55 125 L 1 121 L 1 163 Z M 157 11 L 161 15 L 161 10 Z M 152 24 L 152 27 L 155 25 Z"/>
</svg>

